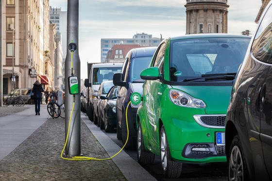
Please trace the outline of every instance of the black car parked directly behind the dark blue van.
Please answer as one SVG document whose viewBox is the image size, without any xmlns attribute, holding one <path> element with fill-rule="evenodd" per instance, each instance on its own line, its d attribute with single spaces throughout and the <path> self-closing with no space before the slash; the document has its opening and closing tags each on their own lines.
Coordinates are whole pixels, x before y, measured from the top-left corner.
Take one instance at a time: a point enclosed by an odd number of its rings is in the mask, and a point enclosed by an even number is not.
<svg viewBox="0 0 272 181">
<path fill-rule="evenodd" d="M 114 132 L 116 130 L 117 116 L 116 116 L 116 99 L 118 95 L 118 86 L 113 86 L 107 96 L 100 96 L 102 99 L 100 104 L 101 110 L 101 129 L 105 132 Z"/>
</svg>

